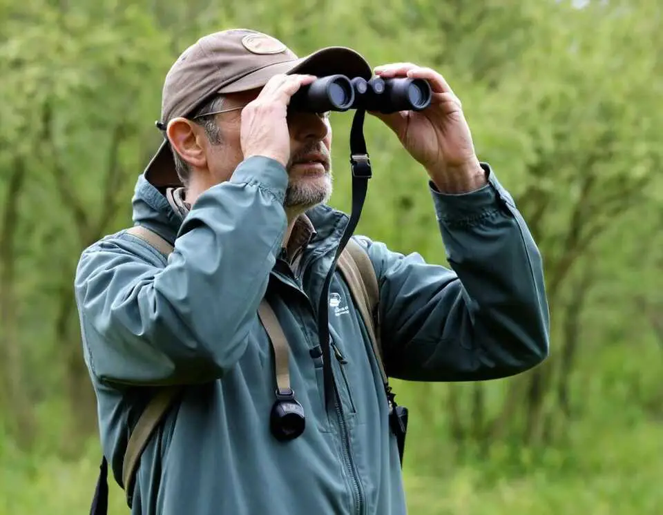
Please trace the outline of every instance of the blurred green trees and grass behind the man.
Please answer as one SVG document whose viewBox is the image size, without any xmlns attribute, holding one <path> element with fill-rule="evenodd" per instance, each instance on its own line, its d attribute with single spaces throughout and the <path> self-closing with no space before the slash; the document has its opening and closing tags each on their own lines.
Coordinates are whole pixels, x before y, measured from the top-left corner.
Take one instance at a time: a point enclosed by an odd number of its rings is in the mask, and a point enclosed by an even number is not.
<svg viewBox="0 0 663 515">
<path fill-rule="evenodd" d="M 539 243 L 544 365 L 394 385 L 410 512 L 661 514 L 662 17 L 659 0 L 0 0 L 0 514 L 88 512 L 100 449 L 77 260 L 131 225 L 171 63 L 231 27 L 441 72 Z M 345 210 L 351 119 L 332 115 Z M 445 263 L 425 172 L 376 119 L 365 131 L 357 232 Z M 114 483 L 111 513 L 128 513 Z"/>
</svg>

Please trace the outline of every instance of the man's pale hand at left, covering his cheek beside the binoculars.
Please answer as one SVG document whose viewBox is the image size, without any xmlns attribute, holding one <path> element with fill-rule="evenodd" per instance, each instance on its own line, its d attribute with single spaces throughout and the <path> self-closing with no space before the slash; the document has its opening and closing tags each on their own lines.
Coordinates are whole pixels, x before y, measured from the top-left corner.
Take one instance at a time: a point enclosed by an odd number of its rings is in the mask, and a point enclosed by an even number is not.
<svg viewBox="0 0 663 515">
<path fill-rule="evenodd" d="M 290 134 L 287 110 L 290 97 L 300 86 L 311 84 L 313 75 L 275 75 L 260 95 L 242 110 L 240 142 L 244 159 L 262 155 L 283 166 L 290 159 Z"/>
</svg>

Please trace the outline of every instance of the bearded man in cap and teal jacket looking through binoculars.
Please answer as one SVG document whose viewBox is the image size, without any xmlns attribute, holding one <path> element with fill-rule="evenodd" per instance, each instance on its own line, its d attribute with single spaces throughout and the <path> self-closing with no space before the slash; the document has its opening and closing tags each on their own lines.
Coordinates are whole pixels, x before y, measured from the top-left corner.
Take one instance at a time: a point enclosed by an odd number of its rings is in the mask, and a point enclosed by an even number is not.
<svg viewBox="0 0 663 515">
<path fill-rule="evenodd" d="M 125 485 L 134 514 L 405 513 L 376 356 L 338 273 L 332 304 L 349 309 L 332 311 L 329 327 L 342 415 L 325 403 L 317 301 L 347 216 L 325 205 L 329 119 L 287 108 L 314 77 L 372 72 L 432 85 L 425 110 L 380 117 L 427 172 L 453 266 L 363 238 L 379 282 L 387 373 L 485 380 L 546 358 L 537 247 L 474 154 L 461 103 L 441 75 L 412 64 L 372 70 L 347 48 L 298 59 L 250 30 L 208 35 L 166 77 L 164 144 L 133 198 L 134 223 L 173 253 L 166 260 L 120 231 L 84 251 L 75 278 L 104 454 L 118 481 L 148 400 L 158 387 L 184 386 Z M 274 362 L 257 314 L 263 298 L 287 337 L 306 416 L 303 434 L 287 443 L 269 431 Z"/>
</svg>

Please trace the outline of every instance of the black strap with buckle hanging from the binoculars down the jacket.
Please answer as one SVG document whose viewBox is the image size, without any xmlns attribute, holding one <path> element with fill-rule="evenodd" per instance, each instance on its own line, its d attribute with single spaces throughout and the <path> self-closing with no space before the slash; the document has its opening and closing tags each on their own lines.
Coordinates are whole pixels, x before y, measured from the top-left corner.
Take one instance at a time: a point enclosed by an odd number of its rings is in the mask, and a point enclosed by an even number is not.
<svg viewBox="0 0 663 515">
<path fill-rule="evenodd" d="M 345 249 L 348 240 L 354 233 L 361 210 L 364 206 L 366 198 L 366 191 L 368 188 L 368 179 L 372 176 L 371 162 L 366 150 L 366 142 L 364 139 L 364 117 L 365 110 L 358 109 L 352 119 L 352 128 L 350 130 L 350 165 L 352 166 L 352 212 L 350 219 L 345 226 L 345 231 L 340 237 L 338 249 L 332 266 L 329 267 L 327 277 L 323 284 L 322 293 L 320 293 L 320 300 L 318 303 L 318 340 L 320 347 L 323 349 L 323 378 L 325 381 L 325 402 L 327 407 L 333 405 L 335 400 L 338 400 L 338 408 L 343 409 L 340 400 L 338 399 L 338 391 L 334 385 L 334 376 L 332 375 L 332 351 L 330 349 L 329 338 L 329 309 L 327 308 L 327 298 L 329 297 L 329 284 L 332 282 L 332 276 L 336 270 L 336 262 L 338 257 Z M 336 398 L 334 398 L 336 396 Z"/>
</svg>

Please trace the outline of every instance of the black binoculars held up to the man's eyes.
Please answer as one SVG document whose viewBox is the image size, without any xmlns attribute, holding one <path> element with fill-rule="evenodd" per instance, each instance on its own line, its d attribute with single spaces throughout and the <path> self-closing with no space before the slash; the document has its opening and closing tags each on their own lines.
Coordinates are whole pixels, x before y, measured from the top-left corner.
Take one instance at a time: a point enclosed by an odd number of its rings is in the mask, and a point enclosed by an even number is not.
<svg viewBox="0 0 663 515">
<path fill-rule="evenodd" d="M 291 97 L 289 107 L 311 113 L 363 109 L 387 114 L 425 109 L 431 97 L 430 84 L 424 79 L 372 77 L 367 81 L 328 75 L 302 86 Z"/>
</svg>

